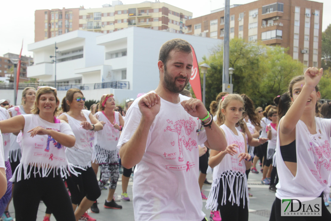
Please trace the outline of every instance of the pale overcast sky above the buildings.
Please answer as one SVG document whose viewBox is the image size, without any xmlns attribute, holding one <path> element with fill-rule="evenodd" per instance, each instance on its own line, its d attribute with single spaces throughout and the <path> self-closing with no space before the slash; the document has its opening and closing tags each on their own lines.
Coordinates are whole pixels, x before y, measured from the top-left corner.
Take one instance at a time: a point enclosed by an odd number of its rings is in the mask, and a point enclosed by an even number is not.
<svg viewBox="0 0 331 221">
<path fill-rule="evenodd" d="M 143 0 L 123 0 L 123 4 L 141 3 Z M 161 0 L 167 4 L 182 8 L 193 13 L 193 18 L 210 14 L 211 10 L 224 7 L 224 0 Z M 250 0 L 230 0 L 230 5 L 246 4 L 253 2 Z M 275 0 L 276 2 L 276 0 Z M 326 9 L 331 9 L 331 0 L 319 0 L 323 2 L 323 23 L 322 31 L 331 23 L 331 14 Z M 24 39 L 22 55 L 33 56 L 32 52 L 27 51 L 27 45 L 34 42 L 34 11 L 39 9 L 62 9 L 78 8 L 101 8 L 103 4 L 112 2 L 110 0 L 56 0 L 56 1 L 5 1 L 0 4 L 0 56 L 8 52 L 19 54 Z"/>
</svg>

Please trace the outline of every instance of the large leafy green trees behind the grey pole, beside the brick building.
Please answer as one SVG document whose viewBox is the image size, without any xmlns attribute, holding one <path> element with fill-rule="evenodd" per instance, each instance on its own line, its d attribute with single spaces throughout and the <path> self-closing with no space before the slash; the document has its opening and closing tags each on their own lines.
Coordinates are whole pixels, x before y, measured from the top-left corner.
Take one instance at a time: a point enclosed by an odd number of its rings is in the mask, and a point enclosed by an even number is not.
<svg viewBox="0 0 331 221">
<path fill-rule="evenodd" d="M 206 107 L 222 91 L 223 48 L 217 46 L 209 58 L 203 58 L 211 68 L 206 74 Z M 291 78 L 302 74 L 303 66 L 287 54 L 287 49 L 266 46 L 259 42 L 247 43 L 243 39 L 230 40 L 229 67 L 233 91 L 245 93 L 256 106 L 272 103 L 275 96 L 287 90 Z M 203 76 L 201 75 L 201 83 Z"/>
</svg>

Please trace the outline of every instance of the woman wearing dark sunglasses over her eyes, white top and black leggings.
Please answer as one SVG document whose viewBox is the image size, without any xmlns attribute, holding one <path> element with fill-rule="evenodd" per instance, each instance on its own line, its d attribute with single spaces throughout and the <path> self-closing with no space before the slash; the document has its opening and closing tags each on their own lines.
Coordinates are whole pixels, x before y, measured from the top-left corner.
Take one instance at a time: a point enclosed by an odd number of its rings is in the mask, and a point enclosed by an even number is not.
<svg viewBox="0 0 331 221">
<path fill-rule="evenodd" d="M 91 218 L 86 210 L 101 195 L 96 175 L 91 167 L 91 157 L 94 145 L 94 132 L 103 129 L 99 122 L 88 110 L 84 110 L 85 97 L 77 88 L 67 91 L 62 101 L 63 114 L 59 119 L 69 123 L 76 137 L 74 147 L 66 149 L 68 161 L 77 168 L 80 174 L 67 179 L 68 188 L 71 193 L 71 202 L 75 211 L 76 220 L 95 220 Z M 78 208 L 77 208 L 77 205 Z"/>
</svg>

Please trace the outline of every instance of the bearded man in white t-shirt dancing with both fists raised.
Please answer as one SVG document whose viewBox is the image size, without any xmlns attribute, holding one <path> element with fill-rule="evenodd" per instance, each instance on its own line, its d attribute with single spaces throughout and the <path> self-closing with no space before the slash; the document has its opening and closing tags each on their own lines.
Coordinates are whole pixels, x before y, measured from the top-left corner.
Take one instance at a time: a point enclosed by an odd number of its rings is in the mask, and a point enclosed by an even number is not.
<svg viewBox="0 0 331 221">
<path fill-rule="evenodd" d="M 158 87 L 137 98 L 126 114 L 117 147 L 125 168 L 137 165 L 135 220 L 205 220 L 198 184 L 198 144 L 223 151 L 227 143 L 201 100 L 179 94 L 191 77 L 192 66 L 187 41 L 164 43 Z"/>
</svg>

